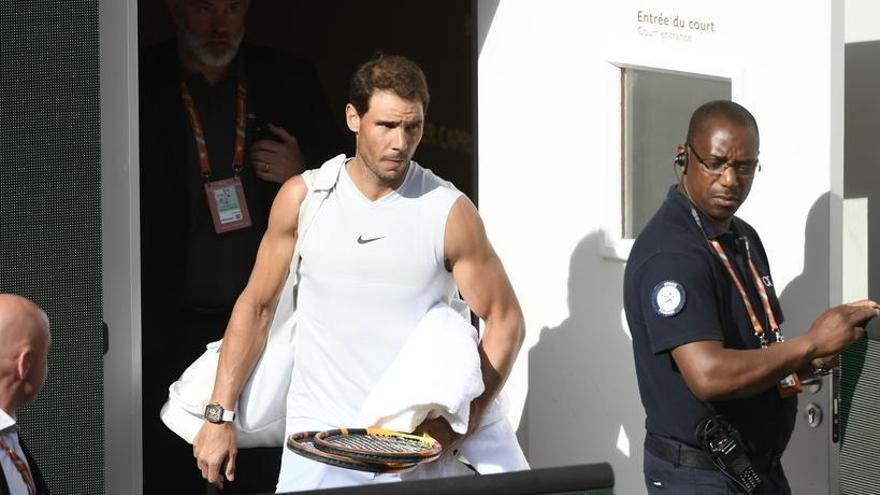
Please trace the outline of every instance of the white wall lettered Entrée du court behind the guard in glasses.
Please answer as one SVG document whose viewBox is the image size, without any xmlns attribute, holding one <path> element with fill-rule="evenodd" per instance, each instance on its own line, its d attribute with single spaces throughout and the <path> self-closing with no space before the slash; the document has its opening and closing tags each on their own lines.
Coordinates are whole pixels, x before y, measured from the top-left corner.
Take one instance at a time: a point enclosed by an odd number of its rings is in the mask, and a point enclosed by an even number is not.
<svg viewBox="0 0 880 495">
<path fill-rule="evenodd" d="M 514 422 L 524 413 L 520 436 L 534 466 L 610 461 L 619 493 L 644 490 L 624 263 L 611 259 L 628 246 L 616 239 L 612 63 L 731 79 L 733 99 L 758 120 L 764 163 L 740 215 L 762 234 L 788 334 L 839 298 L 829 288 L 842 195 L 835 4 L 802 2 L 796 15 L 790 3 L 758 0 L 501 0 L 480 10 L 494 16 L 478 66 L 480 211 L 525 312 L 528 336 L 507 390 Z M 714 30 L 639 22 L 640 10 Z M 671 163 L 676 144 L 658 163 Z"/>
</svg>

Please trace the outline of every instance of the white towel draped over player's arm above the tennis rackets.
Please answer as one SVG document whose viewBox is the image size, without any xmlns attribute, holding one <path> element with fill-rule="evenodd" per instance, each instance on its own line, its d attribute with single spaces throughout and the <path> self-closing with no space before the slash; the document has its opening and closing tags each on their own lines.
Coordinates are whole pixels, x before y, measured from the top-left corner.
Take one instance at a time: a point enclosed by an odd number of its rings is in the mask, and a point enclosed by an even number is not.
<svg viewBox="0 0 880 495">
<path fill-rule="evenodd" d="M 367 396 L 358 423 L 412 432 L 426 419 L 442 416 L 464 434 L 470 404 L 483 390 L 476 329 L 438 302 Z"/>
</svg>

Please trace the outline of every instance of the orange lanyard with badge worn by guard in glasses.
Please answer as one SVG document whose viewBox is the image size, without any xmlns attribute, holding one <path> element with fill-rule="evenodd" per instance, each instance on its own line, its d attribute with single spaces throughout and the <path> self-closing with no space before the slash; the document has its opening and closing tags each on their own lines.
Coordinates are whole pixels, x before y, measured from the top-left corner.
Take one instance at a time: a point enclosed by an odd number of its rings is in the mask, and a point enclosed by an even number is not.
<svg viewBox="0 0 880 495">
<path fill-rule="evenodd" d="M 700 227 L 700 230 L 703 231 L 703 235 L 706 235 L 706 231 L 703 229 L 703 224 L 700 222 L 700 217 L 697 215 L 696 210 L 691 207 L 691 214 L 694 217 L 694 220 L 697 222 L 697 226 Z M 739 279 L 739 276 L 736 274 L 736 271 L 733 269 L 733 265 L 730 263 L 730 259 L 727 257 L 727 254 L 724 252 L 724 248 L 721 246 L 721 243 L 715 239 L 710 239 L 708 235 L 706 235 L 706 240 L 709 242 L 709 246 L 715 251 L 715 254 L 718 255 L 718 258 L 721 260 L 721 263 L 724 265 L 724 268 L 727 269 L 727 273 L 730 275 L 730 278 L 733 280 L 733 285 L 736 286 L 737 291 L 739 292 L 740 297 L 742 298 L 743 304 L 746 307 L 746 312 L 749 314 L 749 319 L 752 321 L 752 328 L 755 332 L 755 337 L 757 337 L 758 342 L 761 344 L 762 349 L 766 349 L 769 346 L 769 342 L 767 341 L 767 336 L 764 335 L 764 326 L 761 325 L 760 320 L 758 320 L 758 315 L 755 314 L 755 309 L 752 307 L 751 301 L 749 301 L 749 296 L 746 293 L 745 287 L 743 286 L 742 281 Z M 776 342 L 784 342 L 785 338 L 782 336 L 782 330 L 779 328 L 779 324 L 776 321 L 776 317 L 773 315 L 773 308 L 770 306 L 770 296 L 767 294 L 767 289 L 764 287 L 764 284 L 761 283 L 761 275 L 758 273 L 758 269 L 755 268 L 755 263 L 752 261 L 751 250 L 749 249 L 748 238 L 745 238 L 746 244 L 746 263 L 749 267 L 749 272 L 752 275 L 752 282 L 755 285 L 755 288 L 758 290 L 758 294 L 761 296 L 761 305 L 764 307 L 764 314 L 767 316 L 767 323 L 770 325 L 770 330 L 773 331 L 776 336 Z M 783 378 L 777 384 L 777 389 L 779 390 L 779 395 L 782 397 L 790 397 L 792 395 L 796 395 L 801 391 L 801 382 L 797 376 L 797 373 L 792 373 L 787 377 Z"/>
</svg>

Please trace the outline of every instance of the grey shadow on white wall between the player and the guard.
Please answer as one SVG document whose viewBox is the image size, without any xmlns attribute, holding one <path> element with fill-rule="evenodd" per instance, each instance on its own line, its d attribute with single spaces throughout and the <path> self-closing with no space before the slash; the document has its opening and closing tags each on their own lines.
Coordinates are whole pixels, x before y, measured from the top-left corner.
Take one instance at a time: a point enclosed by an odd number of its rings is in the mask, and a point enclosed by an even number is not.
<svg viewBox="0 0 880 495">
<path fill-rule="evenodd" d="M 606 234 L 571 255 L 569 316 L 529 351 L 529 394 L 517 435 L 533 467 L 609 462 L 616 493 L 643 493 L 644 409 L 623 319 L 625 265 L 601 256 Z"/>
</svg>

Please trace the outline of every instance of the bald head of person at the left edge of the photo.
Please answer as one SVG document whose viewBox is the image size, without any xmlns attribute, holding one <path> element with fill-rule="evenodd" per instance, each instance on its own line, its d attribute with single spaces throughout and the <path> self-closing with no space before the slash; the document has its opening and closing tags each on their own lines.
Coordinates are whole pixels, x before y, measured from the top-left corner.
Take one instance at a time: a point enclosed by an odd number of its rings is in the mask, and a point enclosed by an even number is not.
<svg viewBox="0 0 880 495">
<path fill-rule="evenodd" d="M 46 313 L 28 299 L 0 294 L 0 408 L 14 412 L 46 380 L 51 336 Z"/>
</svg>

